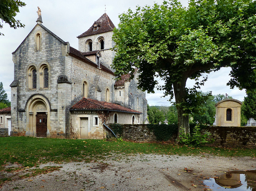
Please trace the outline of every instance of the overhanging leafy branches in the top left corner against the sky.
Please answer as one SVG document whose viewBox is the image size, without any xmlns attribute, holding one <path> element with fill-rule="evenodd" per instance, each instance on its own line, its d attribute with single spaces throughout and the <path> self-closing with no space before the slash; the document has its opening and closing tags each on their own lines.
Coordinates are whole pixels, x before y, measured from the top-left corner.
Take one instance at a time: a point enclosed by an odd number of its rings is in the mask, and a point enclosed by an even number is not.
<svg viewBox="0 0 256 191">
<path fill-rule="evenodd" d="M 20 0 L 1 0 L 0 1 L 0 20 L 2 22 L 9 24 L 11 28 L 16 29 L 17 27 L 24 27 L 19 20 L 15 19 L 15 16 L 19 11 L 19 7 L 25 6 L 24 2 Z M 3 25 L 0 23 L 0 28 L 3 28 Z M 4 35 L 0 32 L 0 35 Z"/>
</svg>

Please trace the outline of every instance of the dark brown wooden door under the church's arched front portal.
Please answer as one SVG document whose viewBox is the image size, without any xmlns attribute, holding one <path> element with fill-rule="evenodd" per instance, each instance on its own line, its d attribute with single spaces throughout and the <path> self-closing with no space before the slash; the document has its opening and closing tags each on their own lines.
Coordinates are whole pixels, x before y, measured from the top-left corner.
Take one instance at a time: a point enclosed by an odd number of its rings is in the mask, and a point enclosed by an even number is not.
<svg viewBox="0 0 256 191">
<path fill-rule="evenodd" d="M 37 113 L 36 115 L 36 137 L 46 137 L 47 115 L 46 113 Z"/>
</svg>

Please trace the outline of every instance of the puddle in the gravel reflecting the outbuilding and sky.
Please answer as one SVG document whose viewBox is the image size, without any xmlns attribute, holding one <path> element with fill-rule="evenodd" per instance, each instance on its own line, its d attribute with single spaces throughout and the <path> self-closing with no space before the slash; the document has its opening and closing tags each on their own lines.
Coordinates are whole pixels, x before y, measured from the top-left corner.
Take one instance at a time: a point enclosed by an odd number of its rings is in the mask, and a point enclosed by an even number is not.
<svg viewBox="0 0 256 191">
<path fill-rule="evenodd" d="M 214 191 L 256 191 L 256 170 L 229 171 L 218 178 L 204 180 L 204 184 Z"/>
</svg>

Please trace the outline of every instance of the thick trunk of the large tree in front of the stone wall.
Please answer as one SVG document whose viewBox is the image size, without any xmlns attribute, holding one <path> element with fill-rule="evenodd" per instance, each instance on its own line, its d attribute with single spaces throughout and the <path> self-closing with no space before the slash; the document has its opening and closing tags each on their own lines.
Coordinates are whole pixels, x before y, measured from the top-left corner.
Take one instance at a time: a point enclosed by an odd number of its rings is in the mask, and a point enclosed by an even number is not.
<svg viewBox="0 0 256 191">
<path fill-rule="evenodd" d="M 186 81 L 187 78 L 182 78 L 179 82 L 173 84 L 174 89 L 174 96 L 176 101 L 176 108 L 178 112 L 178 137 L 177 141 L 179 140 L 179 135 L 182 132 L 186 133 L 186 135 L 190 135 L 189 129 L 189 116 L 185 115 L 183 108 L 179 105 L 180 103 L 186 102 Z"/>
</svg>

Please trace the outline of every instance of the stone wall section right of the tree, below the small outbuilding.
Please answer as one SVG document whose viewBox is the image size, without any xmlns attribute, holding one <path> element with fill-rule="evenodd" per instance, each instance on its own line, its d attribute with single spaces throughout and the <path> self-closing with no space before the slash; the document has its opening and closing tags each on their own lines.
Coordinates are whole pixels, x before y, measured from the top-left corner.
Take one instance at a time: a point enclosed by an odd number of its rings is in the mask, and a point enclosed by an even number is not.
<svg viewBox="0 0 256 191">
<path fill-rule="evenodd" d="M 256 127 L 209 127 L 210 146 L 256 148 Z"/>
</svg>

